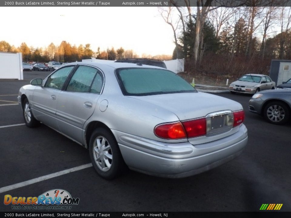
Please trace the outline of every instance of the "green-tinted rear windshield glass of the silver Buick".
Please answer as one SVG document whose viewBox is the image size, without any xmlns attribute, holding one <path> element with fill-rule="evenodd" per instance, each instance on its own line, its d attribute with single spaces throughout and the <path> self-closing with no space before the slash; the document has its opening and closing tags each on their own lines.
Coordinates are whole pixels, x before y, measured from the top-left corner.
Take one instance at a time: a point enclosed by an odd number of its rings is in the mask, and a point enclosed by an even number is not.
<svg viewBox="0 0 291 218">
<path fill-rule="evenodd" d="M 124 95 L 154 95 L 196 92 L 184 79 L 175 73 L 154 68 L 120 68 L 116 70 Z"/>
</svg>

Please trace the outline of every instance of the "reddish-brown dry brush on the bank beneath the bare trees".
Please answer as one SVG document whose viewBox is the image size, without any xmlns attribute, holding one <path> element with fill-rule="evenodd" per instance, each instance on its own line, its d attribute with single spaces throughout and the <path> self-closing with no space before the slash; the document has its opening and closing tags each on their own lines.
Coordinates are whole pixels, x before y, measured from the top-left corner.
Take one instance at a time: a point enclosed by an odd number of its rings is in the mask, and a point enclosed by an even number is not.
<svg viewBox="0 0 291 218">
<path fill-rule="evenodd" d="M 195 84 L 226 86 L 236 81 L 241 76 L 253 74 L 269 74 L 269 65 L 271 60 L 262 60 L 260 57 L 246 58 L 244 56 L 236 56 L 231 58 L 229 55 L 222 54 L 206 54 L 200 64 L 195 65 L 193 58 L 185 60 L 185 72 L 179 75 L 192 83 L 193 78 Z"/>
</svg>

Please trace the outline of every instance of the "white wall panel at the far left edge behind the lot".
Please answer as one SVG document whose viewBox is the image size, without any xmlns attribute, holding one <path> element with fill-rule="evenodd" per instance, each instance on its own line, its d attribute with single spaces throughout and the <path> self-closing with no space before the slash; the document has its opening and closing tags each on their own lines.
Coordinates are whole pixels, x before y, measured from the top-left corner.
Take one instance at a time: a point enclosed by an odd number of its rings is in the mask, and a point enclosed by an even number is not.
<svg viewBox="0 0 291 218">
<path fill-rule="evenodd" d="M 23 80 L 21 53 L 0 52 L 0 79 Z"/>
</svg>

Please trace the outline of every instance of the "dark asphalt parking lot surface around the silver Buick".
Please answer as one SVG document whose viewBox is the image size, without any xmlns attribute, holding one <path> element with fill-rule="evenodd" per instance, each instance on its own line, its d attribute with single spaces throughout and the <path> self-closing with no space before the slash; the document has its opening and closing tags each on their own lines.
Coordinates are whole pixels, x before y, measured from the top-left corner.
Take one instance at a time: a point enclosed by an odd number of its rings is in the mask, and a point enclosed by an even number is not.
<svg viewBox="0 0 291 218">
<path fill-rule="evenodd" d="M 89 151 L 45 125 L 28 128 L 17 104 L 18 90 L 50 72 L 24 72 L 24 81 L 0 81 L 0 190 L 62 170 L 68 173 L 0 193 L 0 211 L 12 211 L 4 195 L 38 196 L 63 189 L 80 198 L 72 211 L 259 211 L 264 203 L 291 210 L 291 123 L 277 126 L 248 111 L 251 96 L 221 93 L 243 105 L 249 142 L 243 154 L 210 171 L 183 179 L 128 171 L 107 181 L 90 163 Z"/>
</svg>

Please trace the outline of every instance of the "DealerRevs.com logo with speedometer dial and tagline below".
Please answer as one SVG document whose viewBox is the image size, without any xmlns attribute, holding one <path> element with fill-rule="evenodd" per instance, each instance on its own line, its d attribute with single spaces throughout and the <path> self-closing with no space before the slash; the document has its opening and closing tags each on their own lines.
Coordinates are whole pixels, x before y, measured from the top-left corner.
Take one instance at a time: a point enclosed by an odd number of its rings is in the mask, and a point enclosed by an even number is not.
<svg viewBox="0 0 291 218">
<path fill-rule="evenodd" d="M 78 205 L 79 198 L 72 198 L 71 194 L 62 189 L 49 190 L 38 197 L 4 196 L 4 204 L 12 204 L 13 210 L 70 210 L 71 205 Z"/>
</svg>

